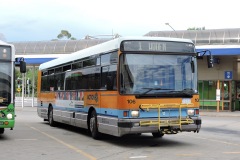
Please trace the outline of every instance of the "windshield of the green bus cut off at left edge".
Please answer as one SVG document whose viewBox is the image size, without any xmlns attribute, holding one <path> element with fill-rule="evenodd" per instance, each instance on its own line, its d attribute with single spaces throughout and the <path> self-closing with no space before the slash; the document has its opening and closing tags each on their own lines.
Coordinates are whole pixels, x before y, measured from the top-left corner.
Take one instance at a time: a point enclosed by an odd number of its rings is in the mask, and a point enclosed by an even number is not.
<svg viewBox="0 0 240 160">
<path fill-rule="evenodd" d="M 0 106 L 11 103 L 11 62 L 1 62 L 0 67 Z"/>
</svg>

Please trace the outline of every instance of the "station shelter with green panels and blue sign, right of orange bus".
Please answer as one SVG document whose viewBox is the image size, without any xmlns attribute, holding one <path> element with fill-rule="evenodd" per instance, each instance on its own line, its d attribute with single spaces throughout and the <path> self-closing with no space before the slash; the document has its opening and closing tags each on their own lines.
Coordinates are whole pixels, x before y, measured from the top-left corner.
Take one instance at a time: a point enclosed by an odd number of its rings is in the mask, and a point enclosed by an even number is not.
<svg viewBox="0 0 240 160">
<path fill-rule="evenodd" d="M 198 60 L 201 109 L 240 110 L 240 45 L 197 46 L 201 50 L 209 50 L 214 61 L 208 68 L 206 57 Z"/>
</svg>

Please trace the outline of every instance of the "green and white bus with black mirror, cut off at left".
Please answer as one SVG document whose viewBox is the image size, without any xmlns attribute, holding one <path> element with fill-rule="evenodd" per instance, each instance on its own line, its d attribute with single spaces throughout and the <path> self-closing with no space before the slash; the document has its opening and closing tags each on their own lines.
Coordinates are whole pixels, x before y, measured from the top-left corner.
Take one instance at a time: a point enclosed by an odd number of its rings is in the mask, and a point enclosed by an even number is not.
<svg viewBox="0 0 240 160">
<path fill-rule="evenodd" d="M 19 61 L 20 62 L 20 61 Z M 26 63 L 21 61 L 20 71 L 26 72 Z M 15 48 L 0 40 L 0 134 L 15 124 Z"/>
</svg>

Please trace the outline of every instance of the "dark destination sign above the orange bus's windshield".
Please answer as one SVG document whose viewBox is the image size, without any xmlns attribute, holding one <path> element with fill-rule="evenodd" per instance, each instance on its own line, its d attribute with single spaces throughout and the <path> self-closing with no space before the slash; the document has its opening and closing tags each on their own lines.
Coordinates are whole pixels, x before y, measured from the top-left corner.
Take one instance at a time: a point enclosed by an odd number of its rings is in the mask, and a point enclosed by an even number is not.
<svg viewBox="0 0 240 160">
<path fill-rule="evenodd" d="M 194 53 L 194 45 L 169 41 L 123 41 L 121 51 L 188 52 Z"/>
</svg>

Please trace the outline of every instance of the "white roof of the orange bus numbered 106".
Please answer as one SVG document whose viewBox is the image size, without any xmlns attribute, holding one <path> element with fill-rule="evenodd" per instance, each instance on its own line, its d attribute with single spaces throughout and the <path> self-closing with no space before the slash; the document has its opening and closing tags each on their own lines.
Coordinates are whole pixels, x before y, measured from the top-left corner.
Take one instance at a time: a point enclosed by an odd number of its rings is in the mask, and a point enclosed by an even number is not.
<svg viewBox="0 0 240 160">
<path fill-rule="evenodd" d="M 107 42 L 74 52 L 72 54 L 68 54 L 68 55 L 59 57 L 59 58 L 51 60 L 49 62 L 43 63 L 39 66 L 39 70 L 52 68 L 55 66 L 59 66 L 61 64 L 73 62 L 78 59 L 82 59 L 82 58 L 89 57 L 89 56 L 94 56 L 96 54 L 117 50 L 117 49 L 119 49 L 121 42 L 125 41 L 125 40 L 162 40 L 162 41 L 177 41 L 177 42 L 193 43 L 190 39 L 182 39 L 182 38 L 145 37 L 145 36 L 142 36 L 142 37 L 119 37 L 119 38 L 109 40 Z"/>
</svg>

